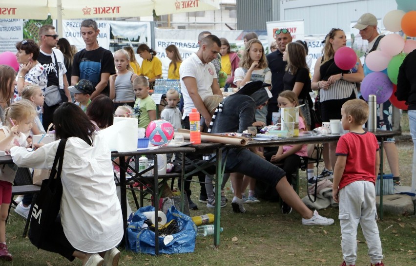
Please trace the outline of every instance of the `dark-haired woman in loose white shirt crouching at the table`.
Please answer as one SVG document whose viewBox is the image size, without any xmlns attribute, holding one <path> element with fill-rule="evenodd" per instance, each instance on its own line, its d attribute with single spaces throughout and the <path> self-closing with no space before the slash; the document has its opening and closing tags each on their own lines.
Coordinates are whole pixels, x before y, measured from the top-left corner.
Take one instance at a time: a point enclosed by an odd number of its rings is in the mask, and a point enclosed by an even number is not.
<svg viewBox="0 0 416 266">
<path fill-rule="evenodd" d="M 66 138 L 62 166 L 61 223 L 51 228 L 45 250 L 86 266 L 117 266 L 123 218 L 113 179 L 111 154 L 81 108 L 63 103 L 54 113 L 56 139 Z M 59 140 L 35 144 L 34 152 L 12 149 L 19 167 L 51 169 Z M 48 178 L 45 176 L 45 178 Z M 104 259 L 103 259 L 104 257 Z"/>
</svg>

